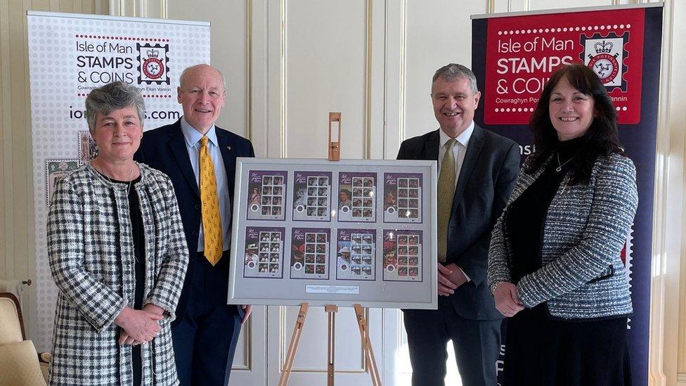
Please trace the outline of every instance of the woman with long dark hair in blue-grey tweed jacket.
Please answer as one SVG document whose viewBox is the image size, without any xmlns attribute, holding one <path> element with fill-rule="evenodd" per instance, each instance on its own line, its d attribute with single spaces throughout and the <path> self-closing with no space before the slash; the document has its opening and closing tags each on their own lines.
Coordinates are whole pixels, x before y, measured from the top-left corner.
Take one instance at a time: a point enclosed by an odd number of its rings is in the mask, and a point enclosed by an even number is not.
<svg viewBox="0 0 686 386">
<path fill-rule="evenodd" d="M 531 129 L 536 153 L 488 255 L 496 308 L 510 318 L 504 385 L 630 385 L 621 250 L 638 193 L 616 110 L 593 70 L 568 65 L 545 85 Z"/>
</svg>

